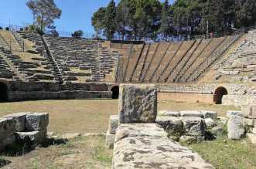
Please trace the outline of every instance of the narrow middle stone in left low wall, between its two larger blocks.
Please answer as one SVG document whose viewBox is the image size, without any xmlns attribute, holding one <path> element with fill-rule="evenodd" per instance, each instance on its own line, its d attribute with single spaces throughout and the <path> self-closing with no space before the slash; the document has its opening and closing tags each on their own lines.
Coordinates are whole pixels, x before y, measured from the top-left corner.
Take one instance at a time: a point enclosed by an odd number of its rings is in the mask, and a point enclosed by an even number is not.
<svg viewBox="0 0 256 169">
<path fill-rule="evenodd" d="M 13 113 L 13 114 L 9 114 L 5 117 L 12 117 L 16 122 L 16 125 L 15 125 L 16 130 L 15 131 L 22 132 L 26 129 L 25 123 L 26 123 L 26 115 L 27 114 L 28 113 Z"/>
</svg>

